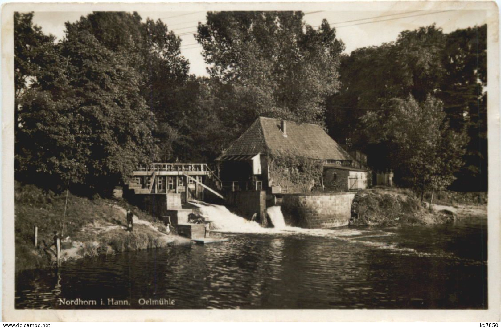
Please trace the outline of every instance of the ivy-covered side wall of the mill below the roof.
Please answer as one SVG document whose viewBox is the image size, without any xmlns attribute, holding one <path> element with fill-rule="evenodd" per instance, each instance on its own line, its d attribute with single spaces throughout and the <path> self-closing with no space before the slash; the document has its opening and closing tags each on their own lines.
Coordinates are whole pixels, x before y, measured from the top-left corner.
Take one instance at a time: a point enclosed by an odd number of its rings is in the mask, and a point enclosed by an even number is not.
<svg viewBox="0 0 501 328">
<path fill-rule="evenodd" d="M 291 155 L 269 155 L 270 186 L 281 186 L 283 193 L 322 190 L 323 161 Z"/>
</svg>

